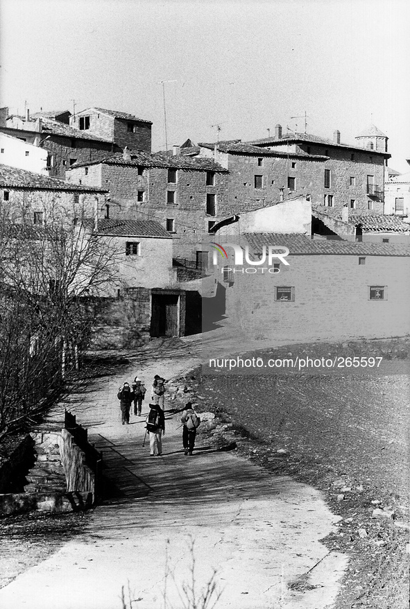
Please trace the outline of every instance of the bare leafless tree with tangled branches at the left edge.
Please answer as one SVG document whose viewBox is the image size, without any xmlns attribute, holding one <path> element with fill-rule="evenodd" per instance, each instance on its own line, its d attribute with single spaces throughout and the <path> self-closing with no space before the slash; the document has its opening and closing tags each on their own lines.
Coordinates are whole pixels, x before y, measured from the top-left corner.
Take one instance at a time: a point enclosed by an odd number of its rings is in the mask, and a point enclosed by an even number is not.
<svg viewBox="0 0 410 609">
<path fill-rule="evenodd" d="M 92 326 L 85 301 L 105 292 L 117 268 L 94 221 L 59 210 L 37 226 L 1 213 L 0 437 L 78 365 Z"/>
</svg>

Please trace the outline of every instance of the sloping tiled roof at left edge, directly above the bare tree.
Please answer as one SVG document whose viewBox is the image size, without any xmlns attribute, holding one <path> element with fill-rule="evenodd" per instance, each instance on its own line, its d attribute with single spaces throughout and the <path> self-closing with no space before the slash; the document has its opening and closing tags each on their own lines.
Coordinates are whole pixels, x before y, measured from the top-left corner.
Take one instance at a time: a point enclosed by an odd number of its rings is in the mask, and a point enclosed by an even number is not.
<svg viewBox="0 0 410 609">
<path fill-rule="evenodd" d="M 67 190 L 76 192 L 108 192 L 107 189 L 69 184 L 41 173 L 17 169 L 0 164 L 0 188 L 24 188 L 34 190 Z"/>
</svg>

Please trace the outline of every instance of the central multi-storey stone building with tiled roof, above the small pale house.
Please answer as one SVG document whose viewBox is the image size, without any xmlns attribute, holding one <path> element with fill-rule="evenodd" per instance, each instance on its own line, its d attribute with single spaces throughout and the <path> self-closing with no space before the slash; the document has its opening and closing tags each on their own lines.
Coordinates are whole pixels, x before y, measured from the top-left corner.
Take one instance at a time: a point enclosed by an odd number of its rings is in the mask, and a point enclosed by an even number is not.
<svg viewBox="0 0 410 609">
<path fill-rule="evenodd" d="M 212 159 L 125 151 L 76 163 L 67 180 L 109 189 L 105 218 L 160 222 L 173 237 L 174 258 L 198 266 L 203 240 L 228 209 L 228 171 Z"/>
</svg>

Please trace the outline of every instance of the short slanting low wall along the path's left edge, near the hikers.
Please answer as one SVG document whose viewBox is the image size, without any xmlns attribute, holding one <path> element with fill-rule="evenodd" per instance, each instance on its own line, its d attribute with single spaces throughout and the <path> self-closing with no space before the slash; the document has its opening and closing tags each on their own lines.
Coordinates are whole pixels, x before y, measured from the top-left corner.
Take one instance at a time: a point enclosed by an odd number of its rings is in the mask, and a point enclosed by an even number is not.
<svg viewBox="0 0 410 609">
<path fill-rule="evenodd" d="M 84 463 L 84 453 L 74 442 L 73 436 L 62 429 L 58 435 L 62 467 L 65 471 L 67 491 L 92 493 L 95 498 L 95 475 Z"/>
</svg>

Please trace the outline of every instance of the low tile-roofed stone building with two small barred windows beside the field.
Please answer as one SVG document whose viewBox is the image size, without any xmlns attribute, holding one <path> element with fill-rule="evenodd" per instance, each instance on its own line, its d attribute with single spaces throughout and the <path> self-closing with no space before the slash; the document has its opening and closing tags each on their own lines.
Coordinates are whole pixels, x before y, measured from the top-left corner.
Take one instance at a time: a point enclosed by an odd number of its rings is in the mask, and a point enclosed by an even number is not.
<svg viewBox="0 0 410 609">
<path fill-rule="evenodd" d="M 214 269 L 223 314 L 238 332 L 302 342 L 404 336 L 410 331 L 409 245 L 315 241 L 301 234 L 237 237 L 235 242 L 248 245 L 255 262 L 264 247 L 289 249 L 287 265 L 275 260 L 268 267 L 265 262 L 262 272 L 250 264 L 235 266 L 232 248 L 226 245 L 235 237 L 219 239 L 217 233 L 215 239 L 228 253 L 226 259 L 219 255 Z M 207 307 L 212 316 L 212 307 L 220 308 L 221 302 L 210 298 Z"/>
</svg>

